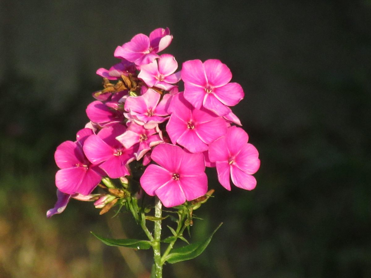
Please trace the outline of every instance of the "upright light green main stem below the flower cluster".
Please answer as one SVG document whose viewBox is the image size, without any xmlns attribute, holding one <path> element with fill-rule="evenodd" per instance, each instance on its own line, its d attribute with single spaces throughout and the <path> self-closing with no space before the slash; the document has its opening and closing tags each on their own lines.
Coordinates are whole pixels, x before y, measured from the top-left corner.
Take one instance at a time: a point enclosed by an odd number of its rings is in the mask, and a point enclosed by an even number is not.
<svg viewBox="0 0 371 278">
<path fill-rule="evenodd" d="M 154 252 L 156 278 L 162 278 L 161 249 L 160 249 L 162 203 L 160 199 L 157 198 L 157 196 L 155 198 L 156 198 L 155 217 L 159 218 L 160 220 L 155 221 L 154 242 L 152 248 Z"/>
</svg>

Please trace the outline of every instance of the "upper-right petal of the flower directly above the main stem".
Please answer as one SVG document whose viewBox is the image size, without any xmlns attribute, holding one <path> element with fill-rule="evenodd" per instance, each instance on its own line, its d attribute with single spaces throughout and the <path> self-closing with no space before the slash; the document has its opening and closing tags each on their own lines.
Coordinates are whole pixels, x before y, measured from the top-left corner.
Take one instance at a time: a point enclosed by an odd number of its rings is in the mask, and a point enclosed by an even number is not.
<svg viewBox="0 0 371 278">
<path fill-rule="evenodd" d="M 198 176 L 205 172 L 205 159 L 202 153 L 183 152 L 178 173 L 181 176 Z"/>
</svg>

